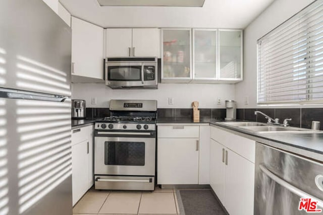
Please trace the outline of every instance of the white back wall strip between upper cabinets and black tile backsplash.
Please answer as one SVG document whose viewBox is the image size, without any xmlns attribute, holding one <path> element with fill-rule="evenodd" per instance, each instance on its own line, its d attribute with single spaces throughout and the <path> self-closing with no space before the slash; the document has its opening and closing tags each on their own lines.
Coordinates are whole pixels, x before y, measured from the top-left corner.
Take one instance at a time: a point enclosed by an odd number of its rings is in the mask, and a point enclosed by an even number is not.
<svg viewBox="0 0 323 215">
<path fill-rule="evenodd" d="M 86 100 L 87 107 L 109 107 L 111 99 L 153 99 L 158 108 L 191 108 L 193 101 L 200 108 L 224 108 L 225 100 L 235 99 L 235 85 L 229 84 L 158 84 L 157 90 L 112 90 L 104 84 L 72 84 L 72 99 Z M 97 104 L 91 105 L 96 97 Z M 168 98 L 174 105 L 168 105 Z M 222 104 L 217 104 L 217 98 Z"/>
</svg>

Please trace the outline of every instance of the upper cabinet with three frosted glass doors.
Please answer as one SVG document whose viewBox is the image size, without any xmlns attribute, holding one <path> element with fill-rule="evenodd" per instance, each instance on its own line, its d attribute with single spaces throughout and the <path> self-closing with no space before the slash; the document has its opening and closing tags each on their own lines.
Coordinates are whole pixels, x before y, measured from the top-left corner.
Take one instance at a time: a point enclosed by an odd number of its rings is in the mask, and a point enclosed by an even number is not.
<svg viewBox="0 0 323 215">
<path fill-rule="evenodd" d="M 161 82 L 242 81 L 242 30 L 161 29 Z"/>
</svg>

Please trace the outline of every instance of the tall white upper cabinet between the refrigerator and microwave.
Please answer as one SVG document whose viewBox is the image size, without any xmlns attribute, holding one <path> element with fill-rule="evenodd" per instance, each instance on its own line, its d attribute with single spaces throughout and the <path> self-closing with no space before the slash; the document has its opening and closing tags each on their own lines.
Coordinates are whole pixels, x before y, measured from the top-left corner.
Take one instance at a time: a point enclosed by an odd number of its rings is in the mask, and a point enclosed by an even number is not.
<svg viewBox="0 0 323 215">
<path fill-rule="evenodd" d="M 73 76 L 103 79 L 103 28 L 72 17 Z"/>
</svg>

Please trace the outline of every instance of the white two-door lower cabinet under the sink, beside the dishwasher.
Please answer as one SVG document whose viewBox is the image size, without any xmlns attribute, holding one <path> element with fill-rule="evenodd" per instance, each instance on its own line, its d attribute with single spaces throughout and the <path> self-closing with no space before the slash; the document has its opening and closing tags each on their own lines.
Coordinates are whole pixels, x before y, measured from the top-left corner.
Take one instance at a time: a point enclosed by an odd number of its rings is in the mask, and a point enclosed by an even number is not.
<svg viewBox="0 0 323 215">
<path fill-rule="evenodd" d="M 211 126 L 210 185 L 230 214 L 253 214 L 255 141 Z"/>
</svg>

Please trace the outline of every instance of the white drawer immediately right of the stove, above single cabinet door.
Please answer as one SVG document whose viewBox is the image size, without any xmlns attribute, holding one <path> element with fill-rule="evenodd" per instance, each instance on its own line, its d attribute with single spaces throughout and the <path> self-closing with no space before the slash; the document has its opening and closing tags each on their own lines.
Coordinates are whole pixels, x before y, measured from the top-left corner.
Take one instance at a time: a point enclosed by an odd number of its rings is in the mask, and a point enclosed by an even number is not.
<svg viewBox="0 0 323 215">
<path fill-rule="evenodd" d="M 199 126 L 158 125 L 158 138 L 199 138 Z"/>
</svg>

